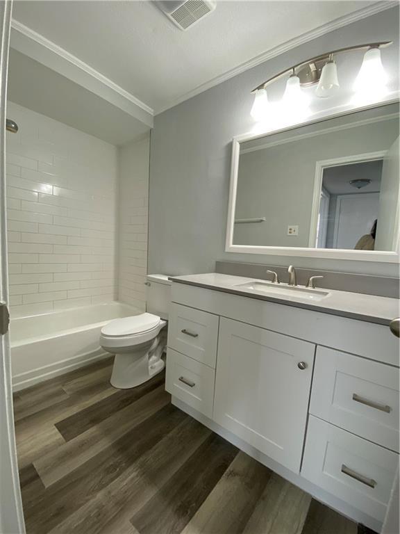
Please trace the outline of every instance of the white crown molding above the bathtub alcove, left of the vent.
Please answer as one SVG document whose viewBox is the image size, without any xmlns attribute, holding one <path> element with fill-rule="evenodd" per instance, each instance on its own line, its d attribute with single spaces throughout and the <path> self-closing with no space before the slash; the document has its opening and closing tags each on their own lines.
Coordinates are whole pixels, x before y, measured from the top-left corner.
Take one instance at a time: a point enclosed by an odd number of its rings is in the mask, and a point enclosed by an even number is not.
<svg viewBox="0 0 400 534">
<path fill-rule="evenodd" d="M 40 33 L 33 31 L 32 29 L 28 28 L 28 26 L 25 26 L 24 24 L 15 19 L 12 19 L 11 21 L 11 28 L 12 30 L 24 35 L 29 40 L 32 40 L 33 42 L 39 44 L 40 47 L 44 47 L 44 49 L 47 49 L 53 54 L 59 56 L 60 58 L 63 58 L 69 64 L 74 65 L 74 67 L 76 67 L 78 70 L 81 70 L 85 74 L 88 74 L 93 79 L 103 84 L 103 86 L 106 86 L 106 88 L 117 93 L 117 95 L 119 95 L 123 99 L 128 100 L 128 102 L 131 102 L 131 104 L 134 104 L 135 106 L 138 106 L 138 108 L 142 109 L 142 111 L 149 113 L 149 115 L 151 116 L 154 115 L 154 111 L 150 106 L 147 106 L 147 104 L 144 104 L 144 102 L 133 96 L 130 92 L 118 86 L 117 83 L 114 83 L 112 80 L 101 74 L 101 72 L 98 72 L 94 68 L 90 67 L 90 65 L 84 63 L 82 60 L 80 60 L 73 54 L 70 54 L 67 50 L 59 47 L 58 44 L 45 38 Z"/>
</svg>

